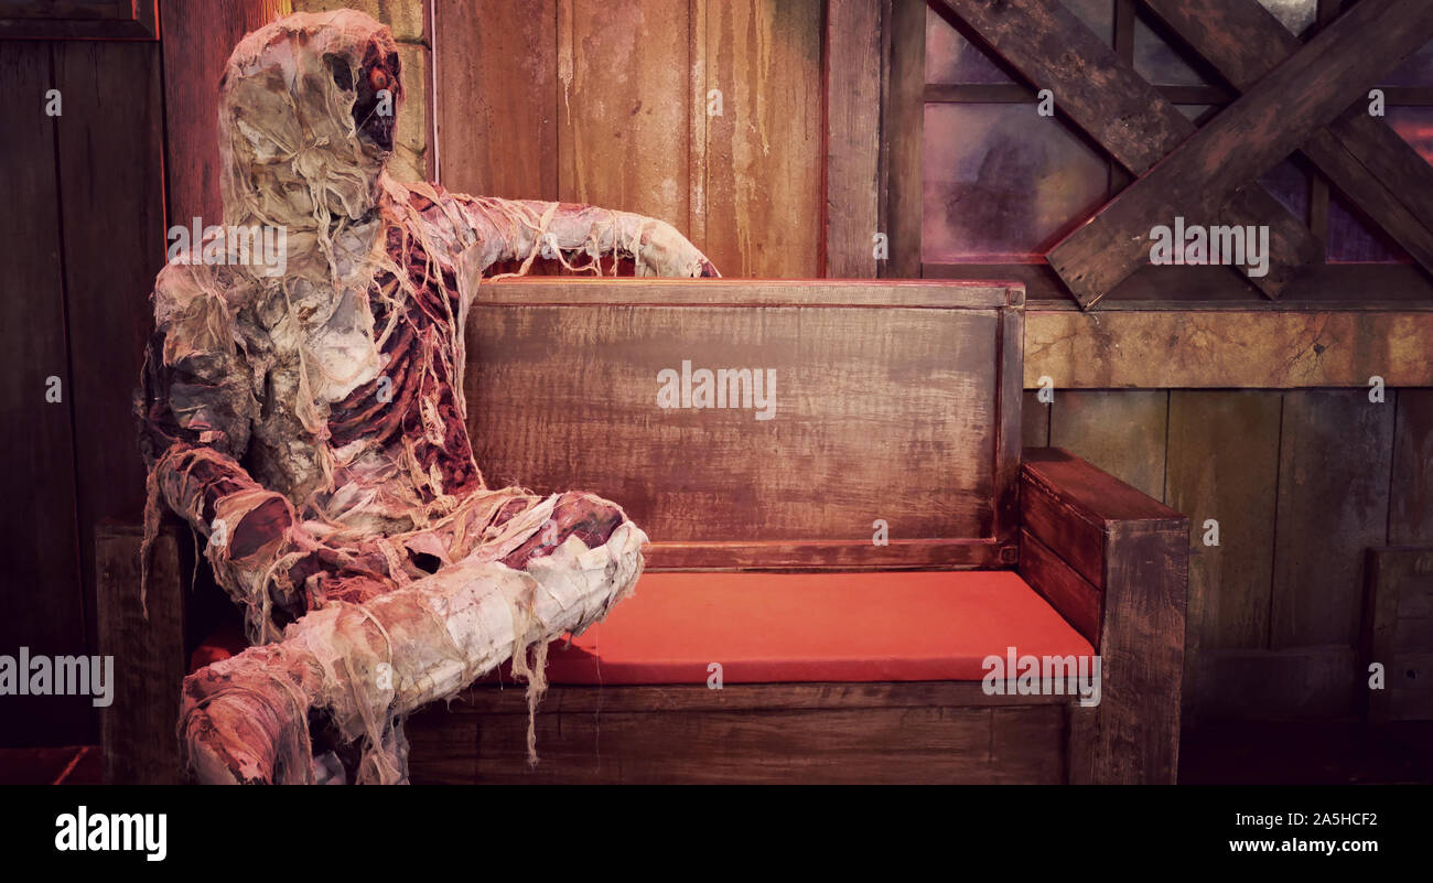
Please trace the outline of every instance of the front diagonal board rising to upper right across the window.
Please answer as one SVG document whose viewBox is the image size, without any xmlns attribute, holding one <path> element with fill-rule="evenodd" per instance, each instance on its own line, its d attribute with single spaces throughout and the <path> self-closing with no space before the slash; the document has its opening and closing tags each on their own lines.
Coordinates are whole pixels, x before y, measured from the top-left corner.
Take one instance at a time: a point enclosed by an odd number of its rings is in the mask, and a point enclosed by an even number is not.
<svg viewBox="0 0 1433 883">
<path fill-rule="evenodd" d="M 1050 249 L 1050 265 L 1095 304 L 1148 262 L 1151 219 L 1215 216 L 1430 36 L 1433 4 L 1363 0 Z"/>
</svg>

